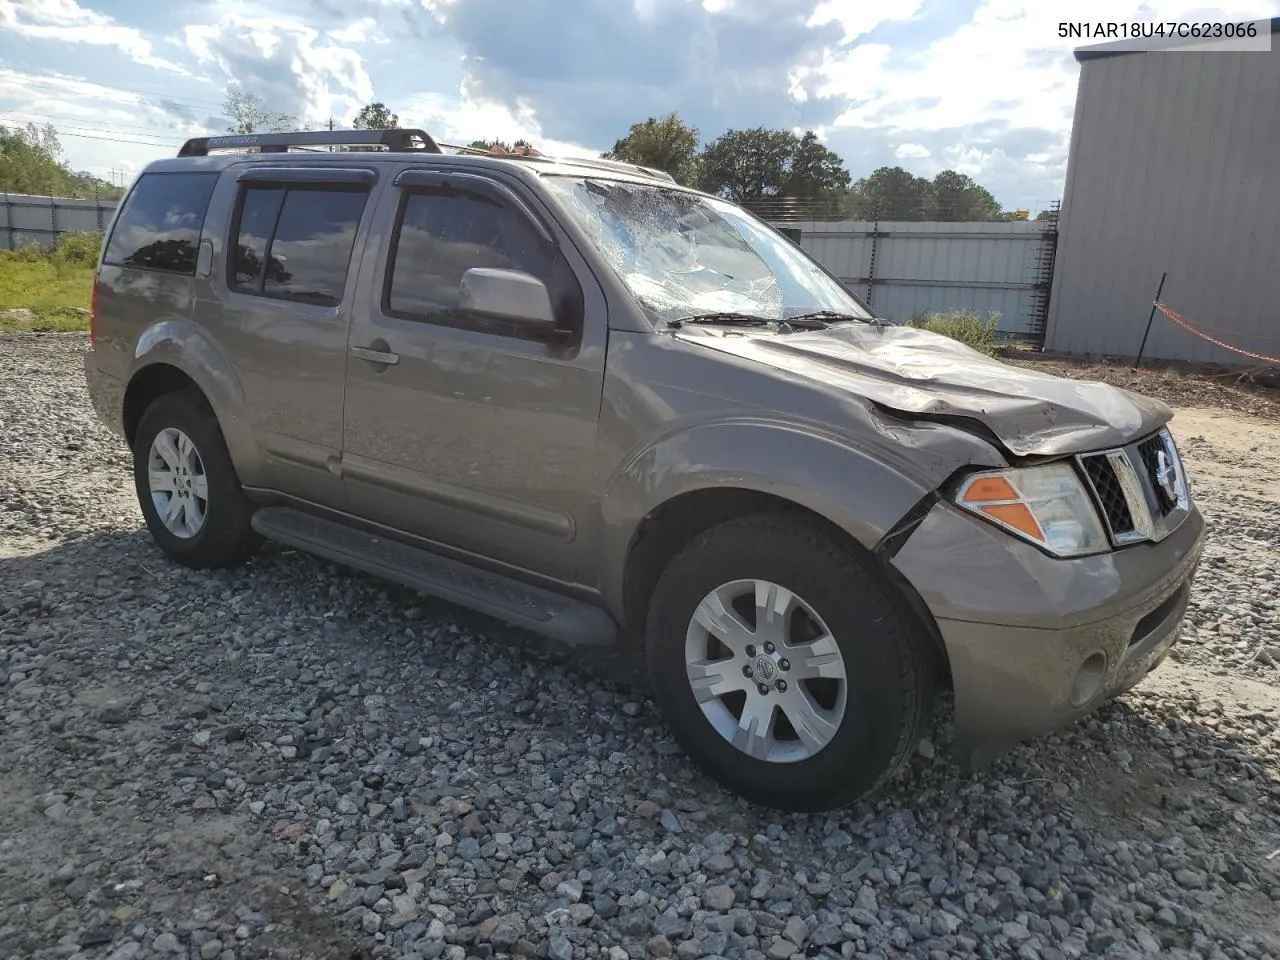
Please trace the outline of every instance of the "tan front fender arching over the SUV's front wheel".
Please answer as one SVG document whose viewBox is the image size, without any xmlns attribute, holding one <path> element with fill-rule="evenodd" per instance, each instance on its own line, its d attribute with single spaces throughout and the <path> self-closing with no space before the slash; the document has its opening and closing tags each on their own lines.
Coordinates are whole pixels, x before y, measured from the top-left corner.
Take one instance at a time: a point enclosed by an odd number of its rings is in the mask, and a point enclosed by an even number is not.
<svg viewBox="0 0 1280 960">
<path fill-rule="evenodd" d="M 860 449 L 818 428 L 740 417 L 684 428 L 622 463 L 602 502 L 600 590 L 614 612 L 625 608 L 627 556 L 641 522 L 686 493 L 737 489 L 805 507 L 868 549 L 922 497 L 964 462 L 951 428 L 919 425 L 877 434 Z M 973 444 L 964 444 L 974 453 Z M 991 451 L 992 465 L 998 454 Z"/>
</svg>

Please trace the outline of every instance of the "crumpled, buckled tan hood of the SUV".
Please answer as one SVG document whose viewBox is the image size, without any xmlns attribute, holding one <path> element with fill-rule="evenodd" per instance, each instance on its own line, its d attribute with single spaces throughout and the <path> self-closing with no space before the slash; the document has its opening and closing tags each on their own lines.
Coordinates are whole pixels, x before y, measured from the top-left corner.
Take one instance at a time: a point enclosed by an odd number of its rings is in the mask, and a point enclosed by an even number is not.
<svg viewBox="0 0 1280 960">
<path fill-rule="evenodd" d="M 1172 416 L 1157 399 L 1002 364 L 913 326 L 851 323 L 765 335 L 685 328 L 676 335 L 850 390 L 901 413 L 978 420 L 1016 456 L 1116 447 Z"/>
</svg>

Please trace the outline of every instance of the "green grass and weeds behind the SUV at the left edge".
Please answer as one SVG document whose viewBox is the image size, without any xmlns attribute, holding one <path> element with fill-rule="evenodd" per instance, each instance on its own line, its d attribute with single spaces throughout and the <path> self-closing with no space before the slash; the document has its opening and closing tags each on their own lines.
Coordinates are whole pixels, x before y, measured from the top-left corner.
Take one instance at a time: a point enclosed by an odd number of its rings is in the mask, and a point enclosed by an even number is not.
<svg viewBox="0 0 1280 960">
<path fill-rule="evenodd" d="M 68 233 L 51 251 L 0 250 L 0 332 L 87 330 L 99 243 Z"/>
</svg>

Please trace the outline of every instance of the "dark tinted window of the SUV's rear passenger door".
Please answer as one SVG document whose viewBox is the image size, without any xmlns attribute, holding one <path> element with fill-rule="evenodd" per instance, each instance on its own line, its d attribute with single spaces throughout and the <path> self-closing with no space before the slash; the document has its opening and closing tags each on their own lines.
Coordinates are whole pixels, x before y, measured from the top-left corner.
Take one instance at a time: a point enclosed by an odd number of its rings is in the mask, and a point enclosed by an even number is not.
<svg viewBox="0 0 1280 960">
<path fill-rule="evenodd" d="M 228 282 L 243 293 L 337 306 L 369 189 L 248 187 Z"/>
</svg>

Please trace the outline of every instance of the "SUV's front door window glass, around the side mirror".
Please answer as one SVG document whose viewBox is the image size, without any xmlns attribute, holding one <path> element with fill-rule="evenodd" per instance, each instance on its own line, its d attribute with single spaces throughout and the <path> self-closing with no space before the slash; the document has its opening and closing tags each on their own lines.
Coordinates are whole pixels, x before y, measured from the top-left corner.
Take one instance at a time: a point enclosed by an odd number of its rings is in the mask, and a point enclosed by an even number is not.
<svg viewBox="0 0 1280 960">
<path fill-rule="evenodd" d="M 492 324 L 461 315 L 462 274 L 474 266 L 522 270 L 547 284 L 559 325 L 577 329 L 582 288 L 563 255 L 524 215 L 483 193 L 415 189 L 401 205 L 385 308 L 453 326 Z"/>
</svg>

